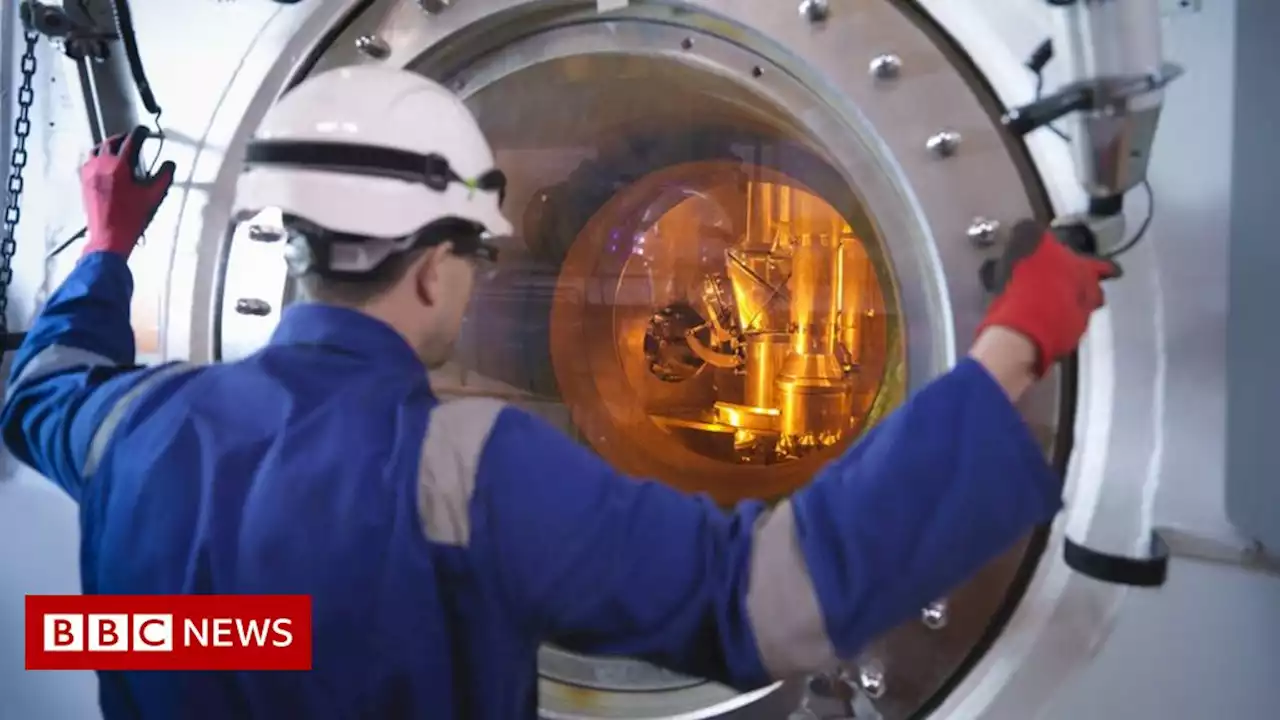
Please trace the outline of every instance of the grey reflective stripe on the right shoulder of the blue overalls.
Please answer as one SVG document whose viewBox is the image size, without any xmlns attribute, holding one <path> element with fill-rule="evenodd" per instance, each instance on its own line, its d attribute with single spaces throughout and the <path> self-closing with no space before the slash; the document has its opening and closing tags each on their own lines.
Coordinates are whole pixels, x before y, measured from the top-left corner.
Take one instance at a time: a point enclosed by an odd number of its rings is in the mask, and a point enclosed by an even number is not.
<svg viewBox="0 0 1280 720">
<path fill-rule="evenodd" d="M 417 469 L 417 515 L 426 539 L 466 546 L 480 455 L 507 404 L 488 397 L 442 402 L 428 418 Z"/>
</svg>

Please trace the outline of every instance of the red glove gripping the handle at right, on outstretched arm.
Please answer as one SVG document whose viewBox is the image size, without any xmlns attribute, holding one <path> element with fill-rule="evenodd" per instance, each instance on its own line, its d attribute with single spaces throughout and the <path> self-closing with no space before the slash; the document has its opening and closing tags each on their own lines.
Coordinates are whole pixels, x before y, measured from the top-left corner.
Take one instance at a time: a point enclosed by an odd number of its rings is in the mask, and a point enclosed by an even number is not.
<svg viewBox="0 0 1280 720">
<path fill-rule="evenodd" d="M 1089 315 L 1102 306 L 1101 282 L 1120 277 L 1120 266 L 1078 255 L 1052 231 L 1024 222 L 1014 228 L 997 275 L 1005 281 L 1004 291 L 978 332 L 1004 327 L 1027 336 L 1038 351 L 1039 377 L 1080 343 Z"/>
</svg>

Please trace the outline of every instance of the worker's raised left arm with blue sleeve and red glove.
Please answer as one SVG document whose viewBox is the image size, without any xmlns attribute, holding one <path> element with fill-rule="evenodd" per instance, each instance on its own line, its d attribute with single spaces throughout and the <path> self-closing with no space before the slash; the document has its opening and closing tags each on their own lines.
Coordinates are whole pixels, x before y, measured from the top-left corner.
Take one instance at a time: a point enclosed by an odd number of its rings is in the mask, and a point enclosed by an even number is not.
<svg viewBox="0 0 1280 720">
<path fill-rule="evenodd" d="M 145 128 L 110 138 L 81 170 L 88 245 L 18 348 L 0 411 L 9 450 L 77 500 L 140 383 L 164 372 L 134 364 L 129 323 L 129 252 L 174 170 L 134 176 L 145 138 Z"/>
</svg>

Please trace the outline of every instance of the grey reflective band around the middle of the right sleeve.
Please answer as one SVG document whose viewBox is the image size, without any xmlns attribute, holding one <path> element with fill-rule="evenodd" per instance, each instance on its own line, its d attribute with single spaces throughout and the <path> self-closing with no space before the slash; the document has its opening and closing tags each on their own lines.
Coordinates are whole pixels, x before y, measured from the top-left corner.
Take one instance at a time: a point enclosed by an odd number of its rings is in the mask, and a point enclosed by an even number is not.
<svg viewBox="0 0 1280 720">
<path fill-rule="evenodd" d="M 756 520 L 751 538 L 746 616 L 760 662 L 774 679 L 836 664 L 836 648 L 795 525 L 795 510 L 783 501 Z"/>
</svg>

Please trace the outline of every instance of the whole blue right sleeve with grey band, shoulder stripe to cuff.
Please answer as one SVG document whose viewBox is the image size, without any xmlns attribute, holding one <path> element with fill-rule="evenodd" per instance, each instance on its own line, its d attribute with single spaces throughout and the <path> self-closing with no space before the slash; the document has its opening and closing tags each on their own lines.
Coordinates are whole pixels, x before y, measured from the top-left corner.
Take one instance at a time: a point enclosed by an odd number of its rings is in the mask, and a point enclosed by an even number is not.
<svg viewBox="0 0 1280 720">
<path fill-rule="evenodd" d="M 1059 507 L 1016 409 L 966 360 L 769 510 L 622 477 L 508 409 L 471 551 L 540 638 L 745 689 L 854 657 Z"/>
</svg>

